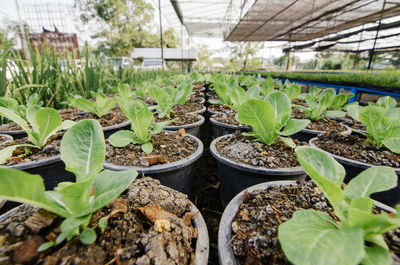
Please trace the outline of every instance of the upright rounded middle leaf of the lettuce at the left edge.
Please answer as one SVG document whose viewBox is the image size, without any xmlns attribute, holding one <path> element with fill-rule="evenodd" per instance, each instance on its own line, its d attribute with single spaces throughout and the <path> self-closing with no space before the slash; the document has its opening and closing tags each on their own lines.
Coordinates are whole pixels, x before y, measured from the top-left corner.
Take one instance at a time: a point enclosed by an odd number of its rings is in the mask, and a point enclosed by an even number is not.
<svg viewBox="0 0 400 265">
<path fill-rule="evenodd" d="M 47 143 L 47 140 L 55 129 L 61 124 L 60 114 L 52 108 L 42 108 L 35 113 L 35 124 L 39 135 L 38 147 L 42 147 Z M 36 143 L 35 143 L 36 144 Z"/>
</svg>

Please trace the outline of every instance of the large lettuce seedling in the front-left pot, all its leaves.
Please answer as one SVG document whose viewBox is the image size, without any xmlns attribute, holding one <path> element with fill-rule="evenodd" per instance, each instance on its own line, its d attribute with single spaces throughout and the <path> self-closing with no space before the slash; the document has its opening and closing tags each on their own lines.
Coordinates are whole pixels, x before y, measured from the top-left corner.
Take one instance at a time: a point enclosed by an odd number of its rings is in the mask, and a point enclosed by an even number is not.
<svg viewBox="0 0 400 265">
<path fill-rule="evenodd" d="M 83 120 L 71 127 L 61 141 L 61 159 L 75 174 L 76 182 L 62 182 L 53 191 L 45 191 L 39 175 L 13 169 L 0 169 L 0 197 L 43 208 L 65 220 L 61 234 L 53 242 L 39 247 L 43 251 L 65 239 L 79 236 L 84 244 L 96 240 L 94 228 L 88 227 L 94 212 L 106 206 L 136 178 L 137 172 L 103 170 L 105 142 L 96 120 Z M 104 227 L 107 217 L 99 221 Z"/>
</svg>

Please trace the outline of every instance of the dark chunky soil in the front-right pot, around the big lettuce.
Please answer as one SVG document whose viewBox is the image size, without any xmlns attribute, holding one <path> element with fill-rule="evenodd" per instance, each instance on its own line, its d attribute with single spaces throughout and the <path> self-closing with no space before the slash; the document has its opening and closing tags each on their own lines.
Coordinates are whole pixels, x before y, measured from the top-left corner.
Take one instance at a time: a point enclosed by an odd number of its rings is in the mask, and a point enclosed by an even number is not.
<svg viewBox="0 0 400 265">
<path fill-rule="evenodd" d="M 237 264 L 291 264 L 279 241 L 278 227 L 296 210 L 315 209 L 333 218 L 333 209 L 313 181 L 298 185 L 273 185 L 245 193 L 244 202 L 232 222 L 231 246 Z M 390 249 L 399 255 L 399 232 L 385 235 Z"/>
</svg>

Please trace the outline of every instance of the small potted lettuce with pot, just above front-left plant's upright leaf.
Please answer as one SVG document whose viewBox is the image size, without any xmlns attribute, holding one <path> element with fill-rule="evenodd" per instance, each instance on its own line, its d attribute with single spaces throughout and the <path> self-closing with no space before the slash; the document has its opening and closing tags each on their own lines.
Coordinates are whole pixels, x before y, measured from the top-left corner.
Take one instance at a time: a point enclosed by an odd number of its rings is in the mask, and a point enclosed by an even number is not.
<svg viewBox="0 0 400 265">
<path fill-rule="evenodd" d="M 92 92 L 94 100 L 88 100 L 80 96 L 70 98 L 70 105 L 86 113 L 78 114 L 74 119 L 97 119 L 103 126 L 104 136 L 108 138 L 119 129 L 129 128 L 129 120 L 116 107 L 115 97 L 107 97 L 103 92 Z"/>
</svg>

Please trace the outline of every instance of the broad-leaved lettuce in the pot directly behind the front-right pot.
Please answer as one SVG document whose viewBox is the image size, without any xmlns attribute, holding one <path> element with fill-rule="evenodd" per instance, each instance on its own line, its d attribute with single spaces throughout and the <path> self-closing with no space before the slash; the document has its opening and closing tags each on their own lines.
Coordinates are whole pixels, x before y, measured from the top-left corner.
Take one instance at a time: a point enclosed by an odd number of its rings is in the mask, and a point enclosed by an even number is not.
<svg viewBox="0 0 400 265">
<path fill-rule="evenodd" d="M 250 134 L 264 144 L 270 145 L 279 136 L 290 136 L 304 129 L 309 120 L 290 119 L 292 108 L 289 97 L 281 92 L 274 91 L 266 96 L 265 101 L 250 99 L 239 107 L 238 119 L 241 123 L 250 125 Z M 289 138 L 279 139 L 291 147 L 296 145 Z"/>
</svg>

